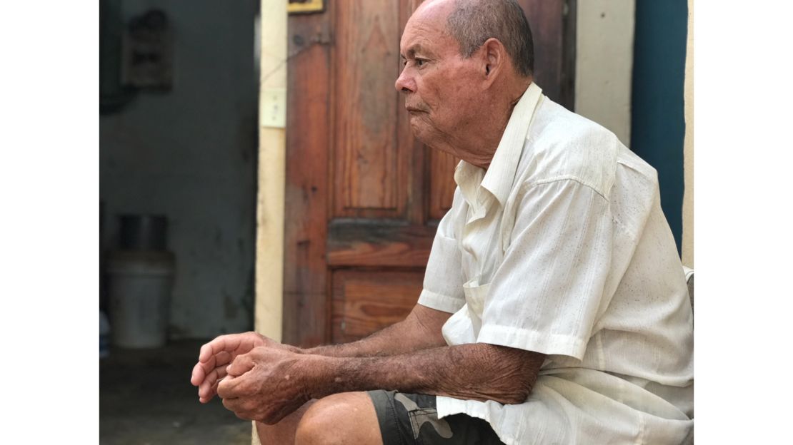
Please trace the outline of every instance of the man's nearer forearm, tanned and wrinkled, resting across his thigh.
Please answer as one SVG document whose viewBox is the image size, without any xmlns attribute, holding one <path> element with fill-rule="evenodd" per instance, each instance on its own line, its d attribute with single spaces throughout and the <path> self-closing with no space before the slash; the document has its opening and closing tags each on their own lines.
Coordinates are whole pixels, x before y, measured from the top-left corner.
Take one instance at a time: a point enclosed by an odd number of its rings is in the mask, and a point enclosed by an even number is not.
<svg viewBox="0 0 793 445">
<path fill-rule="evenodd" d="M 492 344 L 462 344 L 398 356 L 315 357 L 312 397 L 389 389 L 500 403 L 531 393 L 542 354 Z"/>
</svg>

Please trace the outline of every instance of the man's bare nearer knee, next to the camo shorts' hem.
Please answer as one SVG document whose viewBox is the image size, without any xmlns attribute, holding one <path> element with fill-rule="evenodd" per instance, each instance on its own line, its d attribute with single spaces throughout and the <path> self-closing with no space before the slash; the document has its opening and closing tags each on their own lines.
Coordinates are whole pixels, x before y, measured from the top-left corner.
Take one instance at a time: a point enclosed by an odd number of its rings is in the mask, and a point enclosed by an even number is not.
<svg viewBox="0 0 793 445">
<path fill-rule="evenodd" d="M 297 424 L 295 443 L 381 445 L 380 424 L 369 395 L 341 393 L 316 401 Z"/>
</svg>

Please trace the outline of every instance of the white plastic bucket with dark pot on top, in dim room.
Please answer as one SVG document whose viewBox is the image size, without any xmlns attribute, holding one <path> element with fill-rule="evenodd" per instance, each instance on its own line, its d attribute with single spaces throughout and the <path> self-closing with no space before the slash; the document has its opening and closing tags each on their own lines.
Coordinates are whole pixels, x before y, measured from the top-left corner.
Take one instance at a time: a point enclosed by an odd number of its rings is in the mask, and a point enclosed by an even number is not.
<svg viewBox="0 0 793 445">
<path fill-rule="evenodd" d="M 117 251 L 108 258 L 107 272 L 113 346 L 165 345 L 174 282 L 173 253 Z"/>
</svg>

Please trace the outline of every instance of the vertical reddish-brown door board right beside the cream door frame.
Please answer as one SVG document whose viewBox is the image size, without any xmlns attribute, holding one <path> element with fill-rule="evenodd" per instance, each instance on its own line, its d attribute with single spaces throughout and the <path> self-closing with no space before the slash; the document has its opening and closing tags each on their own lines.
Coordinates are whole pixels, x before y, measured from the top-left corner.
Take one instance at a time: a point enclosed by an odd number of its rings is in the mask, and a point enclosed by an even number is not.
<svg viewBox="0 0 793 445">
<path fill-rule="evenodd" d="M 283 340 L 309 346 L 328 337 L 326 14 L 290 15 L 288 36 Z"/>
</svg>

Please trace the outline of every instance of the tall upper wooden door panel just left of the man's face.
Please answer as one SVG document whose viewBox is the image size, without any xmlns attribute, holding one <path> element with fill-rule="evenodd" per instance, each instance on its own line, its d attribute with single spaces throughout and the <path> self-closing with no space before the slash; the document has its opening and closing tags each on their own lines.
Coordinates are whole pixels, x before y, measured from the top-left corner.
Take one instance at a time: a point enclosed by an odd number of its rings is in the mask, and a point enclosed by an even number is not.
<svg viewBox="0 0 793 445">
<path fill-rule="evenodd" d="M 334 215 L 390 217 L 404 213 L 409 154 L 397 141 L 399 4 L 335 3 Z"/>
</svg>

